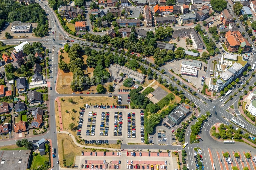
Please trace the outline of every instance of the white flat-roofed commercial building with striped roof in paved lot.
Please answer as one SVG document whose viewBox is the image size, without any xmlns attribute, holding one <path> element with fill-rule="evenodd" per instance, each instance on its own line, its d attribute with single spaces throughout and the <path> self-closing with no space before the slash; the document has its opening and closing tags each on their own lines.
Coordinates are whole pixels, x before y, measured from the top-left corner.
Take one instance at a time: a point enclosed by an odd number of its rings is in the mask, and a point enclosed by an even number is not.
<svg viewBox="0 0 256 170">
<path fill-rule="evenodd" d="M 201 61 L 198 60 L 183 60 L 181 63 L 181 74 L 191 75 L 191 76 L 197 76 L 197 70 L 200 70 L 201 68 Z"/>
</svg>

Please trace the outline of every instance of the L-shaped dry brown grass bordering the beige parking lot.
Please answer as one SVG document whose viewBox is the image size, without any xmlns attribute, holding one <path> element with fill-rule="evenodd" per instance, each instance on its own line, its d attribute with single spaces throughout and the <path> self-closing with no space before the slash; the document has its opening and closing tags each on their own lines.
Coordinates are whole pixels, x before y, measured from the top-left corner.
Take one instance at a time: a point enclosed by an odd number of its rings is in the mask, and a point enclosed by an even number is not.
<svg viewBox="0 0 256 170">
<path fill-rule="evenodd" d="M 82 99 L 80 99 L 79 97 L 63 97 L 63 99 L 65 101 L 61 101 L 60 100 L 60 107 L 61 107 L 61 114 L 62 114 L 62 124 L 63 124 L 63 128 L 64 129 L 68 129 L 68 125 L 70 123 L 74 123 L 75 125 L 78 125 L 77 121 L 79 120 L 79 111 L 80 108 L 79 107 L 84 107 L 84 104 L 88 103 L 88 104 L 116 104 L 115 99 L 113 98 L 109 98 L 109 97 L 97 97 L 97 96 L 92 96 L 92 97 L 83 97 Z M 77 104 L 71 104 L 68 102 L 68 99 L 73 99 L 73 101 L 75 101 Z M 72 109 L 74 109 L 75 111 L 77 111 L 76 113 L 74 113 L 72 111 Z M 68 113 L 66 113 L 65 111 L 68 111 Z M 58 112 L 57 112 L 58 113 Z M 74 120 L 71 119 L 71 117 L 75 118 Z M 56 118 L 56 124 L 59 124 L 59 118 Z M 75 132 L 71 132 L 74 136 L 75 136 Z"/>
</svg>

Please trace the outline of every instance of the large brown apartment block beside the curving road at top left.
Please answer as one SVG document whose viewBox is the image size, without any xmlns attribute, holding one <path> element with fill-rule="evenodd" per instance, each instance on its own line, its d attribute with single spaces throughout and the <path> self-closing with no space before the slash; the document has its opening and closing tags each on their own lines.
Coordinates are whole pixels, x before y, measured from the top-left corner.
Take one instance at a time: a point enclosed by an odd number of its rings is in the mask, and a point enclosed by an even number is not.
<svg viewBox="0 0 256 170">
<path fill-rule="evenodd" d="M 72 5 L 65 5 L 58 8 L 58 12 L 63 18 L 76 18 L 78 14 L 83 15 L 83 9 Z"/>
</svg>

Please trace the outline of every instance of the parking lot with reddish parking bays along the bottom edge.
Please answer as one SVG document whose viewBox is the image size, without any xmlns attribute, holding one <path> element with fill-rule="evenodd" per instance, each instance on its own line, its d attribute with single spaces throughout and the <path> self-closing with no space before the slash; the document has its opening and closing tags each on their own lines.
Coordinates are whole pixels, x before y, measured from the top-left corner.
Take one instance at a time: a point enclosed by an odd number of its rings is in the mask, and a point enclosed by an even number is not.
<svg viewBox="0 0 256 170">
<path fill-rule="evenodd" d="M 106 169 L 175 169 L 170 153 L 158 152 L 85 152 L 83 156 L 76 157 L 76 165 L 81 168 L 104 168 Z M 79 165 L 78 165 L 79 164 Z M 161 168 L 162 166 L 162 168 Z"/>
</svg>

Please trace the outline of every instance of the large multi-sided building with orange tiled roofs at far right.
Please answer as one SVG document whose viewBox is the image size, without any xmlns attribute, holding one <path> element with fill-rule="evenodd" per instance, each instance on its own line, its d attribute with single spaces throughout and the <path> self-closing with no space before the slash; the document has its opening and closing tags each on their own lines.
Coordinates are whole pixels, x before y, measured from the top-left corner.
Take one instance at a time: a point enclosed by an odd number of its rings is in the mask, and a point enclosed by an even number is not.
<svg viewBox="0 0 256 170">
<path fill-rule="evenodd" d="M 245 39 L 239 31 L 228 31 L 225 35 L 225 45 L 230 52 L 248 52 L 251 44 Z M 240 49 L 239 49 L 240 48 Z M 240 51 L 239 51 L 240 50 Z"/>
</svg>

